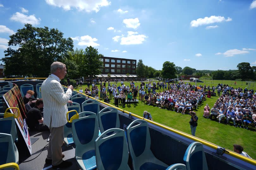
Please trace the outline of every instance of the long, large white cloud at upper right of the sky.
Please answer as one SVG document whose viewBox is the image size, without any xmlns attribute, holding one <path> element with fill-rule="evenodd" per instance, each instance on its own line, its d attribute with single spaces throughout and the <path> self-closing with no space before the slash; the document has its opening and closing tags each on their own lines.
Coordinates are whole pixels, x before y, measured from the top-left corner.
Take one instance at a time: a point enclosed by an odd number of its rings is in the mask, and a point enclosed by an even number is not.
<svg viewBox="0 0 256 170">
<path fill-rule="evenodd" d="M 228 19 L 226 19 L 224 16 L 215 16 L 212 15 L 210 17 L 204 17 L 204 18 L 198 18 L 197 20 L 193 20 L 190 22 L 190 25 L 192 27 L 198 27 L 201 25 L 208 25 L 208 24 L 213 24 L 216 22 L 223 22 L 223 21 L 232 21 L 231 18 L 228 17 Z"/>
</svg>

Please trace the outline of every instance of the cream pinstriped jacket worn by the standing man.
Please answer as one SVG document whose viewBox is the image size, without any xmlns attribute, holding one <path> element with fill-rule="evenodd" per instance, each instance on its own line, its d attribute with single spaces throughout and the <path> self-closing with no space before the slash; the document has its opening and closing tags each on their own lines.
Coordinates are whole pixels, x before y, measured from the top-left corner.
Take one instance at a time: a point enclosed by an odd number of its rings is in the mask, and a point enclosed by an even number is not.
<svg viewBox="0 0 256 170">
<path fill-rule="evenodd" d="M 63 87 L 57 77 L 49 75 L 42 83 L 41 94 L 44 102 L 44 125 L 50 127 L 64 126 L 67 123 L 67 102 L 72 96 L 71 89 L 64 93 Z"/>
</svg>

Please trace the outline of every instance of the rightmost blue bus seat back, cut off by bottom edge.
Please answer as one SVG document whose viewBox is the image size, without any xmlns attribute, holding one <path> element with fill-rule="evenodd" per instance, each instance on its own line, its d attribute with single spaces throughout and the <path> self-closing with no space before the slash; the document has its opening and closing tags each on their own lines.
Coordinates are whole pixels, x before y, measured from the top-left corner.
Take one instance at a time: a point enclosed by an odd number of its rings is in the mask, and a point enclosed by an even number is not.
<svg viewBox="0 0 256 170">
<path fill-rule="evenodd" d="M 200 142 L 191 143 L 183 157 L 187 170 L 208 170 L 203 144 Z"/>
</svg>

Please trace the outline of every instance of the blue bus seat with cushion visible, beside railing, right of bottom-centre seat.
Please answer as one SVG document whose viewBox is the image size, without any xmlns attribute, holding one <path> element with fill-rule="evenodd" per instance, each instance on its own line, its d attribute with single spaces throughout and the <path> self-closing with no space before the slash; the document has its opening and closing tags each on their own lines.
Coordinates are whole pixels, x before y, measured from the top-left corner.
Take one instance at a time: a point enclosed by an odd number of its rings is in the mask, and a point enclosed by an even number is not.
<svg viewBox="0 0 256 170">
<path fill-rule="evenodd" d="M 134 170 L 165 170 L 167 164 L 158 160 L 150 149 L 148 122 L 137 119 L 127 127 L 127 140 Z"/>
</svg>

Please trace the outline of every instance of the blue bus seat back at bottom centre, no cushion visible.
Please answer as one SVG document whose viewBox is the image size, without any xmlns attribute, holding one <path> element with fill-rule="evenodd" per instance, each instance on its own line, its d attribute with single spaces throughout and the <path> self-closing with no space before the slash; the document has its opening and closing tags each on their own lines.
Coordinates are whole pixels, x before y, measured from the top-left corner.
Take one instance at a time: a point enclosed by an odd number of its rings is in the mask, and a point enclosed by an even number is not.
<svg viewBox="0 0 256 170">
<path fill-rule="evenodd" d="M 108 135 L 111 134 L 111 135 Z M 108 129 L 95 140 L 97 169 L 129 170 L 128 145 L 125 131 L 118 128 Z"/>
</svg>

